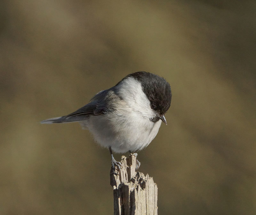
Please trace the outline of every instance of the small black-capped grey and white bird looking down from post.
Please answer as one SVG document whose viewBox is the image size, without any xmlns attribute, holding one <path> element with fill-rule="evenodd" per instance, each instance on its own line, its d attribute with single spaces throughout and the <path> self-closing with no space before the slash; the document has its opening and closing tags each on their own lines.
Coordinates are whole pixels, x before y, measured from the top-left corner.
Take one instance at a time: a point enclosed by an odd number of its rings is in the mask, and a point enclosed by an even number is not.
<svg viewBox="0 0 256 215">
<path fill-rule="evenodd" d="M 114 87 L 97 93 L 84 107 L 66 116 L 45 119 L 41 123 L 79 122 L 94 139 L 108 148 L 111 164 L 122 165 L 117 153 L 142 150 L 155 138 L 164 114 L 171 105 L 170 84 L 156 74 L 136 72 L 125 76 Z M 137 153 L 134 153 L 136 156 Z M 137 160 L 137 168 L 140 162 Z"/>
</svg>

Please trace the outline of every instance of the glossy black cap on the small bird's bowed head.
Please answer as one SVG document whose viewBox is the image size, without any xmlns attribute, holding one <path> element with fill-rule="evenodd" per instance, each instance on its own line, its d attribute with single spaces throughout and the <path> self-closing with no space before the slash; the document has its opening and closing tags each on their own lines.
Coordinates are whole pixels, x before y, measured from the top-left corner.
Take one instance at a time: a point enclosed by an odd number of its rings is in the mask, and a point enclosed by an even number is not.
<svg viewBox="0 0 256 215">
<path fill-rule="evenodd" d="M 156 74 L 140 71 L 127 75 L 140 81 L 142 90 L 148 96 L 151 108 L 160 115 L 166 113 L 171 105 L 172 91 L 170 84 Z"/>
</svg>

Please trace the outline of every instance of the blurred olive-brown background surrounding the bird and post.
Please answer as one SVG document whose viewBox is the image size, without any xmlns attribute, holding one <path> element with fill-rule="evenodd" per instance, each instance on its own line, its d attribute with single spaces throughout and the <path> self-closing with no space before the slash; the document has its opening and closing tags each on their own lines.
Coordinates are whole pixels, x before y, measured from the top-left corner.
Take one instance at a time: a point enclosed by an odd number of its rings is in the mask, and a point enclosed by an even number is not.
<svg viewBox="0 0 256 215">
<path fill-rule="evenodd" d="M 140 70 L 172 105 L 140 171 L 158 214 L 256 214 L 255 1 L 0 2 L 0 214 L 113 214 L 110 156 L 41 125 Z M 115 155 L 120 160 L 121 155 Z"/>
</svg>

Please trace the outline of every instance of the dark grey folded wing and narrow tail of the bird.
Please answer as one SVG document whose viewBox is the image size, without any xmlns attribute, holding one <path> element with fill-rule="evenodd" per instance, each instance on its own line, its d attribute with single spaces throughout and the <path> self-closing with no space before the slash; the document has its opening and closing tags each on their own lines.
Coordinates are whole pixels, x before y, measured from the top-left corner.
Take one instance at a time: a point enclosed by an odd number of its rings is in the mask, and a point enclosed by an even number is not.
<svg viewBox="0 0 256 215">
<path fill-rule="evenodd" d="M 97 93 L 92 99 L 91 102 L 84 105 L 84 107 L 79 108 L 73 113 L 70 113 L 66 116 L 55 117 L 50 119 L 45 119 L 41 123 L 67 123 L 67 122 L 77 122 L 86 120 L 90 115 L 102 115 L 107 111 L 107 97 L 108 90 L 102 90 Z"/>
</svg>

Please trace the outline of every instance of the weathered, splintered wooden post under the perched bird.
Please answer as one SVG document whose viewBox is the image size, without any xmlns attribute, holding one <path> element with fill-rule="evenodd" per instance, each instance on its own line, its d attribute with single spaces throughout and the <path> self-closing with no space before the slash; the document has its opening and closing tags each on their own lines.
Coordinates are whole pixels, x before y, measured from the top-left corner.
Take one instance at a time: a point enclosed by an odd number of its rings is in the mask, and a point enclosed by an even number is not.
<svg viewBox="0 0 256 215">
<path fill-rule="evenodd" d="M 157 215 L 157 185 L 153 178 L 135 171 L 134 155 L 122 156 L 121 163 L 120 173 L 117 169 L 110 173 L 114 215 Z"/>
</svg>

